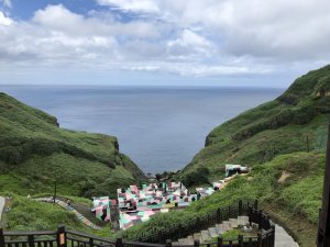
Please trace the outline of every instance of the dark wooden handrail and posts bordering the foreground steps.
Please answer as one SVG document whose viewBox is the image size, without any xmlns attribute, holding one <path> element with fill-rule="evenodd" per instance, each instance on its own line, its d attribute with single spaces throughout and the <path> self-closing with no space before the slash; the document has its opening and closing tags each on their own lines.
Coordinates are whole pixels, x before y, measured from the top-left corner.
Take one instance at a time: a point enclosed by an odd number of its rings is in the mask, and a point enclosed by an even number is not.
<svg viewBox="0 0 330 247">
<path fill-rule="evenodd" d="M 219 213 L 219 210 L 217 212 Z M 238 212 L 237 212 L 238 211 Z M 239 212 L 240 211 L 240 212 Z M 238 213 L 242 213 L 244 211 L 245 213 L 249 213 L 249 217 L 251 218 L 252 222 L 255 223 L 261 223 L 264 227 L 263 233 L 260 233 L 257 237 L 244 237 L 244 236 L 239 236 L 237 239 L 222 239 L 218 238 L 218 242 L 212 242 L 212 243 L 206 243 L 206 244 L 200 244 L 196 242 L 194 246 L 211 246 L 211 245 L 217 245 L 217 246 L 223 246 L 223 247 L 229 247 L 231 246 L 231 243 L 239 243 L 240 246 L 243 246 L 243 242 L 249 240 L 251 244 L 250 246 L 257 247 L 261 246 L 261 242 L 263 239 L 267 238 L 267 243 L 270 244 L 270 247 L 274 247 L 274 236 L 275 236 L 275 227 L 274 223 L 270 220 L 270 217 L 264 214 L 262 211 L 257 211 L 252 209 L 251 205 L 245 206 L 245 204 L 242 204 L 240 202 L 239 207 L 232 207 L 229 210 L 229 207 L 222 209 L 220 211 L 221 213 L 221 220 L 227 218 L 232 216 L 233 214 L 237 215 Z M 216 212 L 216 213 L 217 213 Z M 222 218 L 223 217 L 223 218 Z M 204 214 L 204 217 L 199 217 L 200 220 L 206 220 L 207 223 L 217 221 L 217 215 L 213 213 L 206 213 Z M 200 221 L 199 220 L 199 221 Z M 200 223 L 200 222 L 199 222 Z M 184 226 L 187 227 L 183 234 L 187 231 L 191 231 L 194 228 L 189 228 L 190 225 L 182 225 L 180 223 L 177 224 L 178 226 Z M 168 229 L 166 233 L 163 233 L 163 235 L 160 236 L 148 236 L 148 239 L 157 240 L 160 237 L 162 238 L 169 238 L 170 235 L 173 234 L 173 229 Z M 35 236 L 52 236 L 50 239 L 34 239 Z M 175 235 L 174 237 L 177 237 L 178 235 Z M 11 239 L 7 239 L 10 237 Z M 26 237 L 25 239 L 12 239 L 13 237 Z M 88 247 L 101 247 L 101 246 L 116 246 L 116 247 L 169 247 L 173 246 L 170 240 L 166 240 L 166 244 L 151 244 L 151 243 L 143 243 L 141 240 L 139 242 L 133 242 L 133 240 L 123 240 L 121 238 L 118 238 L 117 240 L 113 239 L 106 239 L 102 237 L 89 235 L 86 233 L 79 233 L 76 231 L 70 231 L 70 229 L 65 229 L 64 226 L 58 227 L 57 231 L 41 231 L 41 232 L 3 232 L 2 228 L 0 228 L 0 246 L 1 247 L 8 247 L 12 245 L 18 245 L 23 244 L 25 246 L 29 244 L 29 246 L 34 246 L 34 244 L 37 244 L 37 246 L 48 246 L 51 243 L 52 246 L 54 247 L 67 247 L 67 242 L 75 243 L 77 245 L 82 244 L 84 246 Z M 234 244 L 237 246 L 237 244 Z M 180 247 L 184 247 L 180 245 Z M 193 245 L 187 245 L 186 247 L 193 247 Z"/>
</svg>

